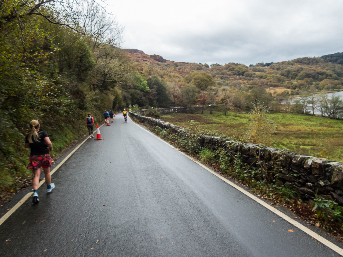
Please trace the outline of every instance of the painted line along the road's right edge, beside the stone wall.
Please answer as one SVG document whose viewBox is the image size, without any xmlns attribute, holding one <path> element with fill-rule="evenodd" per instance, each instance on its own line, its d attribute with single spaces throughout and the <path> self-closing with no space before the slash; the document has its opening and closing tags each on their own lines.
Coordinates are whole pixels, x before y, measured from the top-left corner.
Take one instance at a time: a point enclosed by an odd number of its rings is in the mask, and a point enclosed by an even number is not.
<svg viewBox="0 0 343 257">
<path fill-rule="evenodd" d="M 134 122 L 134 124 L 136 124 Z M 220 178 L 221 180 L 223 180 L 224 182 L 226 182 L 227 184 L 229 184 L 230 186 L 233 186 L 234 188 L 236 188 L 238 191 L 242 192 L 243 194 L 245 194 L 246 196 L 249 196 L 251 199 L 253 199 L 254 201 L 256 201 L 257 203 L 259 203 L 260 205 L 262 205 L 263 207 L 267 208 L 268 210 L 274 212 L 277 216 L 283 218 L 284 220 L 288 221 L 289 223 L 291 223 L 292 225 L 294 225 L 295 227 L 297 227 L 298 229 L 304 231 L 306 234 L 312 236 L 313 238 L 317 239 L 320 243 L 322 243 L 323 245 L 326 245 L 327 247 L 331 248 L 332 250 L 334 250 L 336 253 L 340 254 L 343 256 L 343 249 L 340 248 L 339 246 L 331 243 L 329 240 L 325 239 L 324 237 L 318 235 L 317 233 L 313 232 L 312 230 L 306 228 L 303 224 L 300 224 L 299 222 L 297 222 L 296 220 L 288 217 L 286 214 L 284 214 L 283 212 L 275 209 L 274 207 L 270 206 L 269 204 L 265 203 L 264 201 L 262 201 L 260 198 L 256 197 L 255 195 L 249 193 L 248 191 L 245 191 L 243 188 L 239 187 L 238 185 L 232 183 L 231 181 L 225 179 L 223 176 L 217 174 L 216 172 L 214 172 L 213 170 L 211 170 L 210 168 L 206 167 L 205 165 L 203 165 L 202 163 L 198 162 L 197 160 L 193 159 L 192 157 L 186 155 L 184 152 L 179 151 L 178 149 L 176 149 L 174 146 L 172 146 L 171 144 L 169 144 L 168 142 L 166 142 L 165 140 L 163 140 L 162 138 L 156 136 L 154 133 L 144 129 L 143 127 L 141 127 L 140 125 L 136 124 L 137 126 L 139 126 L 142 130 L 154 135 L 155 137 L 157 137 L 159 140 L 161 140 L 162 142 L 166 143 L 167 145 L 169 145 L 170 147 L 174 148 L 175 150 L 177 150 L 178 152 L 180 152 L 181 154 L 183 154 L 184 156 L 186 156 L 188 159 L 194 161 L 195 163 L 199 164 L 201 167 L 203 167 L 204 169 L 208 170 L 209 172 L 211 172 L 213 175 L 217 176 L 218 178 Z"/>
</svg>

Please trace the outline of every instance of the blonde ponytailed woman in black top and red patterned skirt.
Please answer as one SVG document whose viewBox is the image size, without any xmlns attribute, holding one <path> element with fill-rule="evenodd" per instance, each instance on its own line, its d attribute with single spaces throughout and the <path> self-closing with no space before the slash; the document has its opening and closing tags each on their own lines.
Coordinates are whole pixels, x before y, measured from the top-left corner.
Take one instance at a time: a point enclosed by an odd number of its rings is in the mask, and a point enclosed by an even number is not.
<svg viewBox="0 0 343 257">
<path fill-rule="evenodd" d="M 50 142 L 48 133 L 45 131 L 39 131 L 40 124 L 37 120 L 30 122 L 30 133 L 25 138 L 25 148 L 31 148 L 30 163 L 27 169 L 32 169 L 34 178 L 32 180 L 33 185 L 33 200 L 32 202 L 38 203 L 38 185 L 40 168 L 43 167 L 45 174 L 45 182 L 47 185 L 46 191 L 50 193 L 55 188 L 55 184 L 51 183 L 50 167 L 51 157 L 49 151 L 52 151 L 52 144 Z"/>
</svg>

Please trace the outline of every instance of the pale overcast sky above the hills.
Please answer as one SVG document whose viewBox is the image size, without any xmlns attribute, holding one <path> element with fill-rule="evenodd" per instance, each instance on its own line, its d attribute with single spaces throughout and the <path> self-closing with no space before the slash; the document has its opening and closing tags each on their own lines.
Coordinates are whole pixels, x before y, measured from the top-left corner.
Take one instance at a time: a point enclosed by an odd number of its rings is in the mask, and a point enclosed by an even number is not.
<svg viewBox="0 0 343 257">
<path fill-rule="evenodd" d="M 176 62 L 279 62 L 343 52 L 343 1 L 108 1 L 123 48 Z"/>
</svg>

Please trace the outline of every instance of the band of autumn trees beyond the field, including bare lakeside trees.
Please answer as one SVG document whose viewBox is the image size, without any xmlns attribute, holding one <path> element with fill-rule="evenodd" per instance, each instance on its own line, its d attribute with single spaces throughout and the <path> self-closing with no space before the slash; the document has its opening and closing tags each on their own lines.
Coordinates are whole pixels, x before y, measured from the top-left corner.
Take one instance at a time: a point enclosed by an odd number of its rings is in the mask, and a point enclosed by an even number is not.
<svg viewBox="0 0 343 257">
<path fill-rule="evenodd" d="M 151 93 L 147 91 L 140 93 L 138 98 L 134 97 L 132 89 L 127 90 L 123 100 L 127 104 L 137 104 L 140 108 L 212 106 L 216 103 L 222 105 L 223 114 L 226 114 L 231 107 L 249 111 L 254 103 L 261 101 L 274 112 L 283 109 L 287 112 L 309 113 L 307 110 L 307 106 L 311 105 L 307 99 L 309 96 L 343 90 L 342 56 L 342 53 L 335 53 L 278 63 L 262 62 L 250 67 L 239 63 L 225 65 L 216 63 L 211 64 L 211 68 L 206 63 L 159 63 L 135 59 L 136 68 L 142 71 L 137 76 L 140 76 L 142 81 L 146 81 L 150 89 L 155 86 L 152 81 L 154 83 L 158 81 L 160 89 L 165 88 L 159 90 L 164 100 L 161 101 L 162 98 L 159 101 L 153 100 L 157 95 L 153 97 L 150 94 L 155 94 L 156 90 Z M 273 89 L 280 87 L 284 88 L 281 92 Z M 299 95 L 307 100 L 291 106 L 289 100 Z M 311 99 L 313 102 L 313 98 Z M 334 105 L 331 100 L 328 98 L 326 101 L 321 101 L 325 103 L 317 101 L 313 107 L 320 109 L 323 115 L 331 118 L 341 117 L 342 111 L 330 116 L 332 111 L 330 106 Z M 288 109 L 281 106 L 285 101 L 288 103 Z"/>
</svg>

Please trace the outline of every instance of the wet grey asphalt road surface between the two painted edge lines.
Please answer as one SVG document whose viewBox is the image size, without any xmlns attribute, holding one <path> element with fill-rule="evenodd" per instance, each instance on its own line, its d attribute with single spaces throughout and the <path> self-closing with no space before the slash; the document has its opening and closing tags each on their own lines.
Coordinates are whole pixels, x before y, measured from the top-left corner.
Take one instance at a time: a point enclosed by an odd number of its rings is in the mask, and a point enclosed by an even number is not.
<svg viewBox="0 0 343 257">
<path fill-rule="evenodd" d="M 340 256 L 130 119 L 114 121 L 53 174 L 52 193 L 44 184 L 39 204 L 29 198 L 0 226 L 1 257 Z"/>
</svg>

